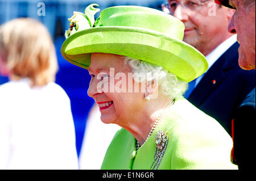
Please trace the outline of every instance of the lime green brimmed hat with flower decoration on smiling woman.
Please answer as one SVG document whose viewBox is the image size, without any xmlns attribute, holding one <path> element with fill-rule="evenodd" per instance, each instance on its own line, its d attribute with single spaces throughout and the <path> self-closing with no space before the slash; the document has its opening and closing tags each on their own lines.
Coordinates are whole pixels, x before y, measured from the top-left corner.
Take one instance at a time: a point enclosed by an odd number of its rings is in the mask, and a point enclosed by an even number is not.
<svg viewBox="0 0 256 181">
<path fill-rule="evenodd" d="M 65 60 L 87 69 L 91 53 L 112 53 L 150 62 L 190 82 L 208 69 L 203 54 L 182 41 L 184 24 L 165 12 L 141 6 L 74 12 L 61 47 Z"/>
</svg>

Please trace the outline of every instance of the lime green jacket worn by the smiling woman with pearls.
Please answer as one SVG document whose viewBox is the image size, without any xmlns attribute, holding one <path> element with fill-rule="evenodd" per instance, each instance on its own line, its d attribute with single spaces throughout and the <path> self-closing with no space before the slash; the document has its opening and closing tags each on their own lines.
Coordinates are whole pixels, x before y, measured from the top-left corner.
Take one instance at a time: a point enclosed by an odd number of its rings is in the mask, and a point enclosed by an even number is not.
<svg viewBox="0 0 256 181">
<path fill-rule="evenodd" d="M 168 145 L 158 169 L 237 169 L 230 162 L 232 138 L 216 120 L 186 99 L 176 100 L 138 151 L 134 136 L 120 129 L 106 151 L 101 169 L 150 169 L 159 130 L 166 132 Z"/>
</svg>

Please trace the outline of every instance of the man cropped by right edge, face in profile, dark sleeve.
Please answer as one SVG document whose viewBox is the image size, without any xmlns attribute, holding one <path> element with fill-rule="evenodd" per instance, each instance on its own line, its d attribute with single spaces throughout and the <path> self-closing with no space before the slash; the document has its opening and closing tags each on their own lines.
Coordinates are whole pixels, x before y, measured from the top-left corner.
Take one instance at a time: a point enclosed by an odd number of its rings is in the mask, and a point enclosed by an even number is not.
<svg viewBox="0 0 256 181">
<path fill-rule="evenodd" d="M 238 52 L 241 68 L 255 70 L 255 0 L 216 0 L 215 2 L 236 10 L 229 22 L 228 31 L 237 33 L 237 41 L 240 43 Z M 250 81 L 255 83 L 254 79 Z M 232 159 L 239 169 L 249 167 L 246 162 L 251 161 L 254 155 L 250 142 L 251 133 L 254 132 L 251 128 L 253 121 L 255 121 L 255 87 L 238 108 L 233 123 Z"/>
</svg>

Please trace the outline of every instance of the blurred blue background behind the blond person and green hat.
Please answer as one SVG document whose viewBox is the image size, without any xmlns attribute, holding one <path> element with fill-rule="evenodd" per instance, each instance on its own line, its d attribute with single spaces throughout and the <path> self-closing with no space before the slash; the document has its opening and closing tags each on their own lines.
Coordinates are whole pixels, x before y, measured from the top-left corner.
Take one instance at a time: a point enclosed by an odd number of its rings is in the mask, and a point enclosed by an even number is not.
<svg viewBox="0 0 256 181">
<path fill-rule="evenodd" d="M 14 18 L 30 17 L 40 20 L 51 33 L 59 63 L 56 83 L 63 87 L 71 99 L 78 157 L 84 137 L 86 120 L 94 100 L 87 95 L 90 82 L 90 75 L 87 70 L 70 64 L 64 60 L 60 53 L 61 44 L 65 40 L 65 30 L 69 28 L 68 18 L 73 15 L 73 11 L 84 12 L 85 7 L 91 3 L 100 5 L 101 10 L 119 5 L 146 6 L 161 10 L 163 2 L 164 0 L 0 0 L 0 25 Z M 99 15 L 100 12 L 96 14 L 95 18 L 98 18 Z M 1 77 L 0 75 L 0 85 L 7 81 L 9 81 L 7 77 Z"/>
</svg>

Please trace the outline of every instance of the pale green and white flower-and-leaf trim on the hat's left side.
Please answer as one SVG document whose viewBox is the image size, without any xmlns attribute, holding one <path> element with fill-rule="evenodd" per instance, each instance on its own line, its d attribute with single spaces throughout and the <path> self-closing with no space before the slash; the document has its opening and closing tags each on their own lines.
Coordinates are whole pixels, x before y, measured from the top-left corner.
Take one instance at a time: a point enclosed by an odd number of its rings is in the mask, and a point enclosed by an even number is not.
<svg viewBox="0 0 256 181">
<path fill-rule="evenodd" d="M 66 39 L 78 31 L 86 30 L 94 26 L 94 23 L 95 23 L 94 15 L 98 11 L 100 11 L 100 9 L 96 9 L 93 6 L 98 6 L 98 5 L 91 4 L 87 6 L 85 9 L 85 14 L 77 11 L 73 12 L 73 16 L 68 19 L 69 22 L 71 23 L 68 30 L 65 31 Z"/>
</svg>

